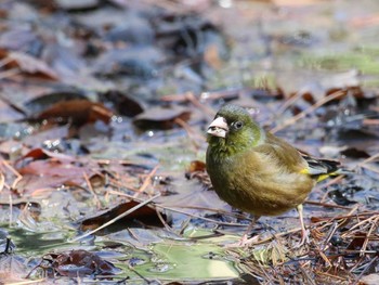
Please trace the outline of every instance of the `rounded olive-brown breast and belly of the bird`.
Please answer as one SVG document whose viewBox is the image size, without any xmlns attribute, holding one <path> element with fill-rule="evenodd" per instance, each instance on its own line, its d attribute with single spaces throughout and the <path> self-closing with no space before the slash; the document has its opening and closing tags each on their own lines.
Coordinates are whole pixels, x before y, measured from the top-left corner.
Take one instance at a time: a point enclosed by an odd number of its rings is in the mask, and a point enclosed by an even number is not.
<svg viewBox="0 0 379 285">
<path fill-rule="evenodd" d="M 295 208 L 314 185 L 310 177 L 285 171 L 253 152 L 218 159 L 208 153 L 207 171 L 223 200 L 257 216 L 276 216 Z"/>
</svg>

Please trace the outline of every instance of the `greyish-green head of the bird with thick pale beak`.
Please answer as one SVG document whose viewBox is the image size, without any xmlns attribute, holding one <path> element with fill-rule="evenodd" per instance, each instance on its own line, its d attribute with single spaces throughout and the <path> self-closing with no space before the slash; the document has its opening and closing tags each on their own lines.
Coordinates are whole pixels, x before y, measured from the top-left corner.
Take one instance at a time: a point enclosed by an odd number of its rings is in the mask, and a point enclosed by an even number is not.
<svg viewBox="0 0 379 285">
<path fill-rule="evenodd" d="M 244 150 L 258 145 L 264 138 L 263 130 L 249 112 L 236 105 L 224 105 L 208 127 L 210 146 Z"/>
</svg>

